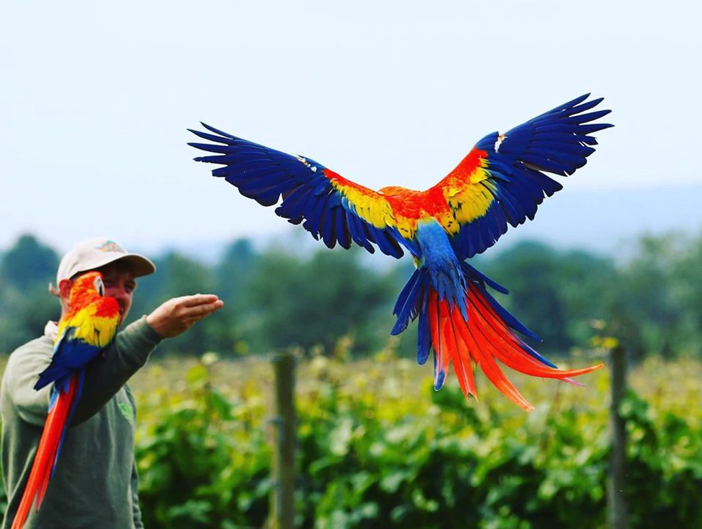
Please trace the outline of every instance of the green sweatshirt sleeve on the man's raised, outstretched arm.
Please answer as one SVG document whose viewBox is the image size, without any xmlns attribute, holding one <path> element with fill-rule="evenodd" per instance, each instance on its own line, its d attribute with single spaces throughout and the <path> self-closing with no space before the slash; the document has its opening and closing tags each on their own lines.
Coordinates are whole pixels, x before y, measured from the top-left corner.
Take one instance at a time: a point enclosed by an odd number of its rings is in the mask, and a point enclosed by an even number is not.
<svg viewBox="0 0 702 529">
<path fill-rule="evenodd" d="M 119 332 L 112 346 L 86 366 L 83 394 L 71 426 L 93 417 L 145 365 L 160 341 L 159 334 L 146 322 L 146 316 Z"/>
</svg>

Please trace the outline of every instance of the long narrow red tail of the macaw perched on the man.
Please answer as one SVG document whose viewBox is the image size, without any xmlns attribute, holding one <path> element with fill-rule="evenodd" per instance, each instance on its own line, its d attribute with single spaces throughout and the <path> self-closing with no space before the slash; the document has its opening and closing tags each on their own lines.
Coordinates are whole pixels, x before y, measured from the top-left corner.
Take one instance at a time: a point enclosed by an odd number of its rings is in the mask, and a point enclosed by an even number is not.
<svg viewBox="0 0 702 529">
<path fill-rule="evenodd" d="M 58 453 L 65 436 L 68 418 L 74 410 L 74 404 L 80 393 L 80 374 L 74 374 L 70 377 L 67 384 L 67 391 L 61 391 L 55 398 L 53 407 L 49 410 L 44 423 L 44 431 L 39 439 L 39 447 L 37 454 L 34 455 L 34 463 L 32 471 L 29 472 L 29 479 L 25 492 L 20 501 L 15 513 L 15 520 L 12 524 L 12 529 L 20 529 L 25 524 L 29 511 L 32 509 L 38 510 L 41 507 L 41 502 L 44 501 L 46 488 L 49 478 L 53 472 Z M 58 383 L 57 383 L 58 384 Z"/>
</svg>

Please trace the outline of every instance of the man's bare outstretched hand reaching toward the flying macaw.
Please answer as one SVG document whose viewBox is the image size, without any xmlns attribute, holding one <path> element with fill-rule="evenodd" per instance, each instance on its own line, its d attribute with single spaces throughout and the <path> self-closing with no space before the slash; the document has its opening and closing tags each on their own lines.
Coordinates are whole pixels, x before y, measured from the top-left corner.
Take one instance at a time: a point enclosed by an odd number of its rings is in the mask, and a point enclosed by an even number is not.
<svg viewBox="0 0 702 529">
<path fill-rule="evenodd" d="M 215 294 L 194 294 L 169 299 L 146 317 L 146 322 L 162 338 L 173 338 L 201 319 L 222 308 Z"/>
</svg>

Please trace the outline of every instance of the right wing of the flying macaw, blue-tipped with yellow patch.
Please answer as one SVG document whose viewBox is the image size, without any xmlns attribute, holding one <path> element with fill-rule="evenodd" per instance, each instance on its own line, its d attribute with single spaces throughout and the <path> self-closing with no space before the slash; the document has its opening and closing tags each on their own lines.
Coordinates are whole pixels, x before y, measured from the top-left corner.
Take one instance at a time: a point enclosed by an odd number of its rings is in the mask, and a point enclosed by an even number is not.
<svg viewBox="0 0 702 529">
<path fill-rule="evenodd" d="M 562 185 L 544 172 L 569 176 L 595 152 L 591 133 L 611 124 L 590 122 L 609 110 L 586 112 L 602 98 L 589 94 L 555 107 L 500 134 L 488 134 L 435 188 L 450 214 L 435 218 L 444 226 L 458 259 L 491 247 L 508 229 L 533 220 L 538 204 Z M 583 113 L 585 112 L 585 113 Z"/>
</svg>

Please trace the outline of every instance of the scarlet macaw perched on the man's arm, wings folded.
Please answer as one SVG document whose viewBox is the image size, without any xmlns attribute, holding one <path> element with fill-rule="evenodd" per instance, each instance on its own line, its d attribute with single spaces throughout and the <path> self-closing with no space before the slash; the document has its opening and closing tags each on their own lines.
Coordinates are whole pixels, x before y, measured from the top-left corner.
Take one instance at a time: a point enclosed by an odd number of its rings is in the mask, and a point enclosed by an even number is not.
<svg viewBox="0 0 702 529">
<path fill-rule="evenodd" d="M 53 382 L 44 431 L 12 529 L 24 525 L 29 510 L 39 509 L 53 475 L 71 417 L 81 398 L 85 365 L 112 343 L 119 325 L 119 303 L 103 297 L 100 272 L 80 275 L 71 287 L 69 309 L 58 324 L 51 364 L 39 374 L 34 389 Z"/>
</svg>

